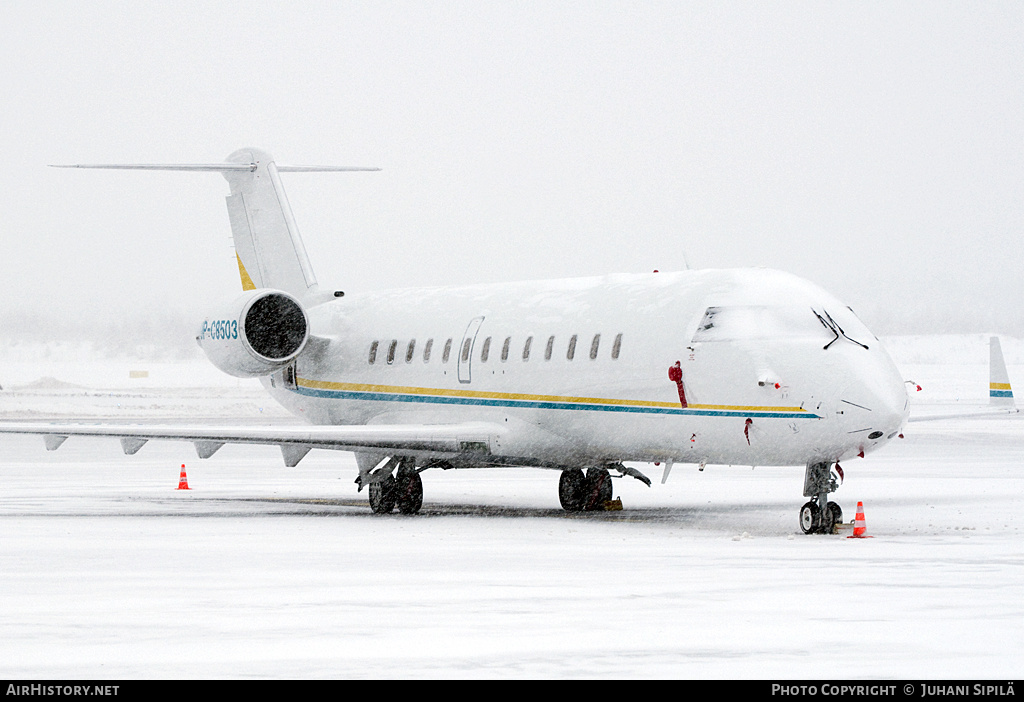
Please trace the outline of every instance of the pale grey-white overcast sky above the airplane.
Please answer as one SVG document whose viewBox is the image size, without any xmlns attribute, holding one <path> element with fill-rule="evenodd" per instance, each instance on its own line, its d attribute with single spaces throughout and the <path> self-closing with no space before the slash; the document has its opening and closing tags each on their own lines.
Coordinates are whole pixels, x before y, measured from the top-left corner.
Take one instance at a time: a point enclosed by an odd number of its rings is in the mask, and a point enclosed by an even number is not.
<svg viewBox="0 0 1024 702">
<path fill-rule="evenodd" d="M 282 164 L 345 291 L 766 266 L 878 334 L 1024 336 L 1024 3 L 0 6 L 0 318 L 241 288 L 213 173 Z"/>
</svg>

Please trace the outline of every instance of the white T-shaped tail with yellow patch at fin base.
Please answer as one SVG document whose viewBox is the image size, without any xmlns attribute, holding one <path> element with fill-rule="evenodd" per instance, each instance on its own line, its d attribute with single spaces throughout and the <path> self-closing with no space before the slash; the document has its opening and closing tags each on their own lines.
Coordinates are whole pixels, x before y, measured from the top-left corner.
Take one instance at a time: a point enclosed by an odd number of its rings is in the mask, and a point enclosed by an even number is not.
<svg viewBox="0 0 1024 702">
<path fill-rule="evenodd" d="M 380 170 L 347 166 L 278 166 L 269 153 L 257 148 L 239 149 L 227 157 L 224 164 L 83 164 L 60 168 L 222 173 L 231 188 L 227 196 L 227 216 L 243 290 L 275 288 L 300 299 L 315 290 L 316 276 L 279 173 Z"/>
</svg>

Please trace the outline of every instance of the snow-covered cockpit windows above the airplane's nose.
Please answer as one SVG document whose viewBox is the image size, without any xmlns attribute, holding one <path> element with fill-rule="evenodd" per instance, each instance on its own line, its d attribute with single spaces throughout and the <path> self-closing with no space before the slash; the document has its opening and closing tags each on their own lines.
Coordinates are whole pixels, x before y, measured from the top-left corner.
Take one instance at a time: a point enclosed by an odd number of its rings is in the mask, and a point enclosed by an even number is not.
<svg viewBox="0 0 1024 702">
<path fill-rule="evenodd" d="M 709 307 L 693 342 L 807 339 L 824 344 L 833 336 L 810 307 L 737 305 Z"/>
</svg>

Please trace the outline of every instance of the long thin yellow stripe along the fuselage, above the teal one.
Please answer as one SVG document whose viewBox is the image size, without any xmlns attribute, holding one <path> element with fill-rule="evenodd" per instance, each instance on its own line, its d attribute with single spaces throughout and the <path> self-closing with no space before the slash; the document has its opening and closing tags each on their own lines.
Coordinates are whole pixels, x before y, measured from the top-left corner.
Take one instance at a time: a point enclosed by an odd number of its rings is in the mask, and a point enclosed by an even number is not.
<svg viewBox="0 0 1024 702">
<path fill-rule="evenodd" d="M 414 386 L 368 385 L 360 383 L 331 383 L 306 378 L 296 379 L 296 384 L 311 390 L 335 390 L 339 392 L 389 393 L 401 395 L 423 395 L 432 397 L 471 397 L 488 400 L 510 400 L 520 402 L 566 402 L 579 404 L 606 404 L 624 407 L 665 407 L 678 408 L 679 402 L 658 402 L 653 400 L 621 400 L 607 397 L 573 397 L 566 395 L 535 395 L 530 393 L 497 393 L 477 390 L 454 390 L 446 388 L 418 388 Z M 758 412 L 804 412 L 803 407 L 757 407 L 734 404 L 690 404 L 689 409 L 717 409 Z"/>
</svg>

